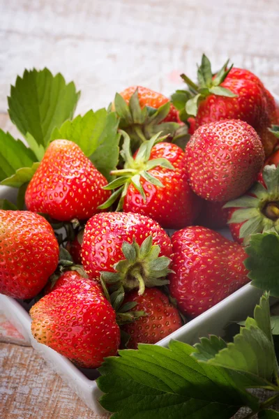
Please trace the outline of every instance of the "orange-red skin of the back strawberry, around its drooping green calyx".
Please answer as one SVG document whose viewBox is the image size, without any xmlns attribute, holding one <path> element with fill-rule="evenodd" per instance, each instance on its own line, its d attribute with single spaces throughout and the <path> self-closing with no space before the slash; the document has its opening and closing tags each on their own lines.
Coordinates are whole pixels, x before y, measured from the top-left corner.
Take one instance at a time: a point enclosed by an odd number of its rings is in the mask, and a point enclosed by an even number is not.
<svg viewBox="0 0 279 419">
<path fill-rule="evenodd" d="M 131 86 L 127 89 L 121 91 L 121 96 L 129 103 L 131 96 L 135 93 L 135 90 L 138 89 L 140 107 L 150 106 L 151 108 L 158 109 L 160 106 L 165 105 L 169 102 L 169 99 L 163 94 L 157 93 L 151 89 L 147 89 L 142 86 Z M 179 112 L 176 110 L 174 105 L 170 105 L 169 113 L 163 122 L 180 122 Z"/>
</svg>

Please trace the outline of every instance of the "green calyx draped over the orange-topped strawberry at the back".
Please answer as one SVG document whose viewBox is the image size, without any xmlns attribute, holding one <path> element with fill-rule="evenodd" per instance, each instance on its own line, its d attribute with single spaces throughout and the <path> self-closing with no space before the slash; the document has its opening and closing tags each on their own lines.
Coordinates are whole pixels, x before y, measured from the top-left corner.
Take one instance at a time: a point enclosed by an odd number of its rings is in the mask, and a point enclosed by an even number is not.
<svg viewBox="0 0 279 419">
<path fill-rule="evenodd" d="M 150 140 L 159 131 L 168 135 L 173 142 L 181 140 L 188 134 L 188 127 L 181 126 L 177 122 L 163 122 L 169 114 L 171 102 L 167 102 L 160 108 L 150 106 L 140 107 L 138 89 L 135 90 L 129 103 L 118 93 L 114 98 L 114 109 L 120 118 L 119 128 L 128 133 L 132 142 L 133 152 L 140 147 L 140 144 Z"/>
</svg>

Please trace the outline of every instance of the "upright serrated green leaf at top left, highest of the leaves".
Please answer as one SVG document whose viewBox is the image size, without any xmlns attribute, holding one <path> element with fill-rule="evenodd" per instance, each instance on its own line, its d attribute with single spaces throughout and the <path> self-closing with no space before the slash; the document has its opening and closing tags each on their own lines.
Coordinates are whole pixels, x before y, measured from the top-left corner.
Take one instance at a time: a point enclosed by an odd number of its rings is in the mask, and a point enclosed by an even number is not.
<svg viewBox="0 0 279 419">
<path fill-rule="evenodd" d="M 54 76 L 47 68 L 25 70 L 10 88 L 8 112 L 23 135 L 30 133 L 46 147 L 54 127 L 73 117 L 79 97 L 75 84 L 66 84 L 60 73 Z"/>
</svg>

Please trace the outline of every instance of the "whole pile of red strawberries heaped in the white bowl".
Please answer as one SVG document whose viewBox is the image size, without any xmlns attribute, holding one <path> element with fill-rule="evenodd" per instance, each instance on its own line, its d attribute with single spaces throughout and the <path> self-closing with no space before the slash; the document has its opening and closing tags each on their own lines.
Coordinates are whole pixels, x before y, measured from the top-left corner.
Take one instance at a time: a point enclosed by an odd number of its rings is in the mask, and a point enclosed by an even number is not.
<svg viewBox="0 0 279 419">
<path fill-rule="evenodd" d="M 54 140 L 27 211 L 0 210 L 0 292 L 35 298 L 33 336 L 82 367 L 213 307 L 249 281 L 250 235 L 279 232 L 273 96 L 228 63 L 212 74 L 205 56 L 199 84 L 182 77 L 172 101 L 144 87 L 116 94 L 110 184 L 78 145 Z M 227 223 L 234 242 L 210 229 Z"/>
</svg>

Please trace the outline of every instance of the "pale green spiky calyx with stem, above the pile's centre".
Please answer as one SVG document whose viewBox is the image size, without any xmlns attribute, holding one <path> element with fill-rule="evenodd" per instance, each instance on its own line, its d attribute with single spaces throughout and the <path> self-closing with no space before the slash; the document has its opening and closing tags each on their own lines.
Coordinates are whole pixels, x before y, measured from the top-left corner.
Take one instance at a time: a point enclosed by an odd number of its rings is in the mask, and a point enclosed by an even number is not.
<svg viewBox="0 0 279 419">
<path fill-rule="evenodd" d="M 120 170 L 112 170 L 112 172 L 110 172 L 111 175 L 114 175 L 117 178 L 110 182 L 110 184 L 103 186 L 103 189 L 109 191 L 115 189 L 115 191 L 112 193 L 110 198 L 105 201 L 105 203 L 98 207 L 100 210 L 105 210 L 110 207 L 120 196 L 120 200 L 116 208 L 116 211 L 120 211 L 123 208 L 123 201 L 130 184 L 135 186 L 135 189 L 140 192 L 142 198 L 145 200 L 146 196 L 144 189 L 142 188 L 142 184 L 140 183 L 140 178 L 143 177 L 147 182 L 160 188 L 163 187 L 162 182 L 151 175 L 149 170 L 158 166 L 174 170 L 172 163 L 165 158 L 149 160 L 153 145 L 157 142 L 165 140 L 165 137 L 160 137 L 161 133 L 157 133 L 156 135 L 153 135 L 149 141 L 143 142 L 134 159 L 130 150 L 129 135 L 125 131 L 120 132 L 124 138 L 123 147 L 120 152 L 123 160 L 125 161 L 124 168 Z"/>
</svg>

